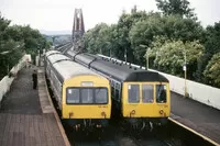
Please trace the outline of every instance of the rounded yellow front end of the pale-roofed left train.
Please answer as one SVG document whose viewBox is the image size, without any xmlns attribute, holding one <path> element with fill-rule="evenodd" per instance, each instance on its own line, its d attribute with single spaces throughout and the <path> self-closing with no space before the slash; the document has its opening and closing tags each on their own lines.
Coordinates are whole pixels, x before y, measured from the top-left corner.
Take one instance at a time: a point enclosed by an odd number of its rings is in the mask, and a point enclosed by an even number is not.
<svg viewBox="0 0 220 146">
<path fill-rule="evenodd" d="M 76 128 L 107 126 L 111 115 L 109 89 L 108 80 L 99 76 L 84 75 L 65 80 L 63 119 L 68 119 Z"/>
</svg>

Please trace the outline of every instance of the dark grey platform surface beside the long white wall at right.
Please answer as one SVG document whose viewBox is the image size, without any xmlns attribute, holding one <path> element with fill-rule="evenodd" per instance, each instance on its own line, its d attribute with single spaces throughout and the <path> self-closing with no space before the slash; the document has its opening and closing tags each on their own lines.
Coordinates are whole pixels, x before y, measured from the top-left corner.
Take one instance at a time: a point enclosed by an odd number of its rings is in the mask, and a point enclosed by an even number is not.
<svg viewBox="0 0 220 146">
<path fill-rule="evenodd" d="M 180 94 L 172 92 L 172 115 L 183 125 L 208 137 L 215 145 L 220 145 L 220 111 Z"/>
</svg>

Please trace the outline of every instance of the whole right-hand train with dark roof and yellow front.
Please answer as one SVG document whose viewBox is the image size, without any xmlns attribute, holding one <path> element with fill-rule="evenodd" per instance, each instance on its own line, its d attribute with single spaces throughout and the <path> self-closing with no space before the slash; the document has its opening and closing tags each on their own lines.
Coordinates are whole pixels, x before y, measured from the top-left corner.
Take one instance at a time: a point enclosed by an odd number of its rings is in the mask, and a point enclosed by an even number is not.
<svg viewBox="0 0 220 146">
<path fill-rule="evenodd" d="M 132 127 L 141 130 L 151 123 L 167 122 L 170 93 L 164 76 L 87 53 L 68 50 L 66 55 L 110 81 L 113 119 L 122 117 Z"/>
</svg>

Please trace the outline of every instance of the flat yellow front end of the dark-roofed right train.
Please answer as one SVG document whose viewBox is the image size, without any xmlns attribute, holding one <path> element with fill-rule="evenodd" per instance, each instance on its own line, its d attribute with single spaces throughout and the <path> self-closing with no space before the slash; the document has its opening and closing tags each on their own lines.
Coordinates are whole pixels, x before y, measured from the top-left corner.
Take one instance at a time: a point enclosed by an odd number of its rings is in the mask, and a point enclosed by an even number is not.
<svg viewBox="0 0 220 146">
<path fill-rule="evenodd" d="M 148 80 L 128 81 L 122 86 L 122 116 L 134 127 L 144 128 L 150 123 L 165 125 L 170 114 L 168 81 Z"/>
</svg>

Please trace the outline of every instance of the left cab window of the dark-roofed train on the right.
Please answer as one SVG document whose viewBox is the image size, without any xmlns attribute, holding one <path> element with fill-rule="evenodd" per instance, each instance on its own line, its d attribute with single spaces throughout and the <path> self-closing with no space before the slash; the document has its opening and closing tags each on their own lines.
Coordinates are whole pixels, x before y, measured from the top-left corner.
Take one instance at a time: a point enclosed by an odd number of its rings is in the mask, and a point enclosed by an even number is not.
<svg viewBox="0 0 220 146">
<path fill-rule="evenodd" d="M 129 103 L 140 102 L 140 86 L 129 85 Z"/>
</svg>

